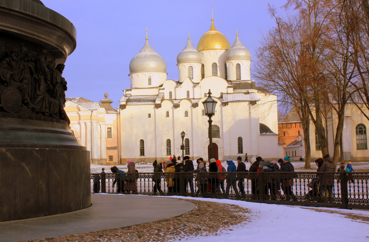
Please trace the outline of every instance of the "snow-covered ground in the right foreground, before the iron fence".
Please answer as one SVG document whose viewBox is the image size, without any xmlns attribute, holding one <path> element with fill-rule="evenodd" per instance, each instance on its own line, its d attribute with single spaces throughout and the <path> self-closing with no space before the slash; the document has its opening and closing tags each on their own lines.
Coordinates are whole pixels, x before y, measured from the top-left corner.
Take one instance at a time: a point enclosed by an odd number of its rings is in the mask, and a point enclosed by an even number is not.
<svg viewBox="0 0 369 242">
<path fill-rule="evenodd" d="M 369 241 L 369 211 L 326 209 L 330 213 L 324 213 L 310 210 L 311 207 L 304 209 L 297 206 L 252 203 L 228 199 L 171 197 L 235 204 L 252 210 L 252 214 L 245 214 L 245 216 L 251 217 L 252 221 L 232 228 L 233 231 L 225 230 L 220 236 L 199 236 L 197 238 L 190 238 L 187 241 Z M 321 207 L 317 209 L 322 210 Z M 325 209 L 323 208 L 323 210 Z M 342 214 L 331 213 L 332 211 L 366 216 L 367 221 L 355 221 Z"/>
</svg>

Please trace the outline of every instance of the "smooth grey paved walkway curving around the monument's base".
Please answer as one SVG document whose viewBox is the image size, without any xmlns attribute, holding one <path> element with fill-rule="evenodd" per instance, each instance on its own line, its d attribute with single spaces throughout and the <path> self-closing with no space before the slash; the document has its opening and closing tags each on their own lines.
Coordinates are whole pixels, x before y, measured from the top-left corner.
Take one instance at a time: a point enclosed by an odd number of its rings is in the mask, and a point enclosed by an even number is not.
<svg viewBox="0 0 369 242">
<path fill-rule="evenodd" d="M 0 241 L 17 242 L 126 227 L 180 216 L 195 204 L 169 197 L 92 194 L 92 206 L 70 213 L 0 223 Z M 168 209 L 170 207 L 170 209 Z"/>
</svg>

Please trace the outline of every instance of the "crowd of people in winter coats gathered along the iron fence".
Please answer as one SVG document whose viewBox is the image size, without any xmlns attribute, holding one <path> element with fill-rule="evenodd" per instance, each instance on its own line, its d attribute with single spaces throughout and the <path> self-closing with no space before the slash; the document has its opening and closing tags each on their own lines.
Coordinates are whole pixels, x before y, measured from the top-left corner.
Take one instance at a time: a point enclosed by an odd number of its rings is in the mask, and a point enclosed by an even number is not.
<svg viewBox="0 0 369 242">
<path fill-rule="evenodd" d="M 263 160 L 262 157 L 252 157 L 250 160 L 250 168 L 246 170 L 245 162 L 248 161 L 247 154 L 245 161 L 241 156 L 237 157 L 237 164 L 228 158 L 226 163 L 228 165 L 225 169 L 220 160 L 210 159 L 207 166 L 207 161 L 203 158 L 196 160 L 197 167 L 195 169 L 194 162 L 190 160 L 189 156 L 178 157 L 173 156 L 172 159 L 166 162 L 158 163 L 156 160 L 152 164 L 154 167 L 153 191 L 154 193 L 163 194 L 161 187 L 162 178 L 165 179 L 168 193 L 187 192 L 189 187 L 191 193 L 223 193 L 229 195 L 230 188 L 234 190 L 236 195 L 245 194 L 245 179 L 251 181 L 251 195 L 259 195 L 261 192 L 265 195 L 270 195 L 271 199 L 277 199 L 277 195 L 283 195 L 287 200 L 296 200 L 293 194 L 293 181 L 297 177 L 294 174 L 294 166 L 290 162 L 289 157 L 284 159 Z M 183 158 L 183 161 L 182 159 Z M 335 172 L 336 166 L 333 159 L 327 154 L 323 159 L 315 160 L 318 169 L 317 172 Z M 125 173 L 119 170 L 116 166 L 111 167 L 111 172 L 115 173 L 113 181 L 113 188 L 117 186 L 117 193 L 137 193 L 137 177 L 132 174 L 137 173 L 134 162 L 128 160 L 128 172 Z M 347 167 L 342 162 L 339 165 L 337 172 L 351 172 L 354 171 L 351 162 L 348 162 Z M 165 174 L 162 174 L 165 172 Z M 186 172 L 179 174 L 180 172 Z M 197 172 L 196 175 L 192 172 Z M 204 173 L 204 172 L 227 172 L 225 173 Z M 238 172 L 238 173 L 232 173 Z M 239 173 L 245 172 L 245 173 Z M 253 172 L 253 173 L 246 173 Z M 276 175 L 261 175 L 263 172 L 292 172 L 292 173 L 278 173 Z M 331 174 L 317 175 L 308 186 L 312 188 L 308 195 L 311 197 L 333 197 L 334 177 Z M 263 177 L 263 179 L 260 179 Z M 194 186 L 194 178 L 196 184 L 196 191 Z M 224 183 L 226 181 L 226 187 Z M 183 183 L 183 184 L 182 184 Z M 237 184 L 238 183 L 238 184 Z M 96 188 L 95 188 L 96 186 Z M 98 187 L 97 187 L 98 186 Z M 98 177 L 94 178 L 94 192 L 100 190 L 100 181 Z M 182 191 L 181 189 L 184 189 Z"/>
</svg>

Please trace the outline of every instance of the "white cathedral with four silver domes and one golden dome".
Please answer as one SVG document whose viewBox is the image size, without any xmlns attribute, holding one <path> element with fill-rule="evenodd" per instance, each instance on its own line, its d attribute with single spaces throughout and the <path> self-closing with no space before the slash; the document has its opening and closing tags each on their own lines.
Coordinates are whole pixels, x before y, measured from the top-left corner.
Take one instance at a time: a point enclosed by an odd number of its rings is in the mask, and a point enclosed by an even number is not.
<svg viewBox="0 0 369 242">
<path fill-rule="evenodd" d="M 202 102 L 209 89 L 217 100 L 212 117 L 214 156 L 225 160 L 279 158 L 277 97 L 250 78 L 251 54 L 236 34 L 232 46 L 214 26 L 195 49 L 188 38 L 177 56 L 179 80 L 166 79 L 163 58 L 149 45 L 132 58 L 131 88 L 120 99 L 120 157 L 153 162 L 184 154 L 208 159 L 208 118 Z"/>
</svg>

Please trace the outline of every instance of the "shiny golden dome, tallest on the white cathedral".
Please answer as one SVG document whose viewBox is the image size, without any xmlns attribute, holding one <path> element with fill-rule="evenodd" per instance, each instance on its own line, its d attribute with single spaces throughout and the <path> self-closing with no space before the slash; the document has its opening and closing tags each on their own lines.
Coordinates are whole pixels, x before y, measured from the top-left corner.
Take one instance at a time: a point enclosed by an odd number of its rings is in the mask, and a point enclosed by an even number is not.
<svg viewBox="0 0 369 242">
<path fill-rule="evenodd" d="M 223 33 L 217 31 L 214 26 L 214 19 L 211 19 L 211 26 L 208 32 L 201 36 L 197 44 L 197 51 L 200 50 L 217 50 L 231 48 L 230 42 Z"/>
</svg>

